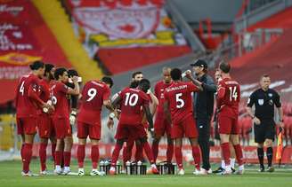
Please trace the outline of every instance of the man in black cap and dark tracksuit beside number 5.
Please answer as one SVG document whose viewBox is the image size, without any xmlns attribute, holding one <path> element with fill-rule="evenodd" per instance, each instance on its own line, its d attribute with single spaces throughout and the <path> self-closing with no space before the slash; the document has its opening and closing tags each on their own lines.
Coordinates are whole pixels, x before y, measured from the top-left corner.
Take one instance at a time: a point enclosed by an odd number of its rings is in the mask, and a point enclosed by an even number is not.
<svg viewBox="0 0 292 187">
<path fill-rule="evenodd" d="M 191 64 L 192 69 L 201 82 L 203 91 L 194 92 L 193 107 L 194 118 L 197 122 L 199 132 L 199 147 L 202 153 L 203 166 L 201 172 L 203 174 L 212 173 L 209 161 L 210 154 L 210 123 L 214 109 L 214 95 L 217 90 L 214 80 L 207 74 L 207 63 L 205 60 L 198 59 Z"/>
</svg>

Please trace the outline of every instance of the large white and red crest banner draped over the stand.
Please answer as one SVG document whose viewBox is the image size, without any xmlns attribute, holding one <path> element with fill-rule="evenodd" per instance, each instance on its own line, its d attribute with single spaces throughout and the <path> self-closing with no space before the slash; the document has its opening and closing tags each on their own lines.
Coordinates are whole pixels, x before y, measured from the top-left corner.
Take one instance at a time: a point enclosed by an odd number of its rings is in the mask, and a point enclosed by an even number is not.
<svg viewBox="0 0 292 187">
<path fill-rule="evenodd" d="M 106 72 L 118 74 L 191 53 L 164 1 L 106 2 L 63 1 L 79 40 Z"/>
</svg>

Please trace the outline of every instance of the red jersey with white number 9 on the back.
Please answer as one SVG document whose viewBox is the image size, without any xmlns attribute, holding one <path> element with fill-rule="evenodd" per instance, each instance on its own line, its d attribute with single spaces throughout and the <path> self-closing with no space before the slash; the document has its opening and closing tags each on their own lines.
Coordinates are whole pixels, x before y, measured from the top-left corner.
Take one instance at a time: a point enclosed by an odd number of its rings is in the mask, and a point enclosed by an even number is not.
<svg viewBox="0 0 292 187">
<path fill-rule="evenodd" d="M 86 82 L 82 90 L 80 112 L 77 121 L 88 124 L 100 123 L 104 100 L 110 99 L 110 88 L 103 82 Z"/>
</svg>

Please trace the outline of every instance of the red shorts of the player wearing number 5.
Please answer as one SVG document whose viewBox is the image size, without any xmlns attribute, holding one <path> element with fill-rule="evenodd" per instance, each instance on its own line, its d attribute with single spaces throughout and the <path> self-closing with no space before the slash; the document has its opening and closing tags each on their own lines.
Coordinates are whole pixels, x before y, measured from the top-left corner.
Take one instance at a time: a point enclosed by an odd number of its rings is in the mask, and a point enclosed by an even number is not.
<svg viewBox="0 0 292 187">
<path fill-rule="evenodd" d="M 192 116 L 179 123 L 174 123 L 172 128 L 172 138 L 198 137 L 197 125 Z"/>
</svg>

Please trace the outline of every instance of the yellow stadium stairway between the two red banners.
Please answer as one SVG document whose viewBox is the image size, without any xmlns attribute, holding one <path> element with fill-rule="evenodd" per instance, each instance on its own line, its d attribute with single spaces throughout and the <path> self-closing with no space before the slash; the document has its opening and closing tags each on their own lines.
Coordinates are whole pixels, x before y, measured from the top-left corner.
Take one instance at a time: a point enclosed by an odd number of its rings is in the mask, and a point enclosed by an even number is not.
<svg viewBox="0 0 292 187">
<path fill-rule="evenodd" d="M 55 35 L 70 63 L 85 81 L 101 78 L 101 69 L 89 58 L 82 44 L 78 42 L 69 19 L 58 0 L 33 0 L 33 4 L 43 16 Z"/>
</svg>

